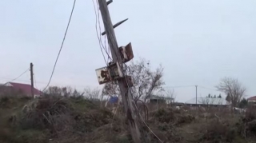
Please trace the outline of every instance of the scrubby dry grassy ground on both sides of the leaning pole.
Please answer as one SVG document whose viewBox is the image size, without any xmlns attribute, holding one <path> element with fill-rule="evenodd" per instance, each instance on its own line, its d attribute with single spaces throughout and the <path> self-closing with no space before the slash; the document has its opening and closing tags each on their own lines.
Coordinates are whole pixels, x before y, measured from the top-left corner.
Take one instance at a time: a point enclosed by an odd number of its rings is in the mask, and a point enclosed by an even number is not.
<svg viewBox="0 0 256 143">
<path fill-rule="evenodd" d="M 190 110 L 159 108 L 150 110 L 147 125 L 166 143 L 256 142 L 256 112 L 249 111 L 245 116 L 220 110 L 204 116 Z M 82 98 L 0 100 L 2 143 L 130 143 L 127 127 L 123 114 L 114 116 L 94 101 Z M 142 124 L 142 129 L 142 141 L 159 142 L 146 125 Z"/>
</svg>

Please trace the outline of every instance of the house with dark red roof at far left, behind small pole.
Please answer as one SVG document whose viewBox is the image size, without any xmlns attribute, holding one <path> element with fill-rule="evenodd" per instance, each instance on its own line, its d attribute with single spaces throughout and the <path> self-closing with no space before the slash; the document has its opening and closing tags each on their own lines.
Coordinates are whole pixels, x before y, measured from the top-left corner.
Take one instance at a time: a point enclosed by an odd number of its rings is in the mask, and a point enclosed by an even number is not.
<svg viewBox="0 0 256 143">
<path fill-rule="evenodd" d="M 34 96 L 39 97 L 42 92 L 38 89 L 33 89 Z M 7 82 L 6 84 L 0 85 L 0 96 L 2 95 L 18 95 L 24 97 L 32 97 L 32 87 L 28 84 Z"/>
</svg>

